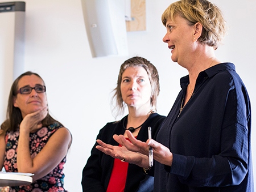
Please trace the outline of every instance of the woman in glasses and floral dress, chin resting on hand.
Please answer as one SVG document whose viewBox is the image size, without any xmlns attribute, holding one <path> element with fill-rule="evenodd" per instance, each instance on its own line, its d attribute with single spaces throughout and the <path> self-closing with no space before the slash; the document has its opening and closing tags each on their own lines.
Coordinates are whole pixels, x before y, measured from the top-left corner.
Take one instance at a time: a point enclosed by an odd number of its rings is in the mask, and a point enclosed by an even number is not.
<svg viewBox="0 0 256 192">
<path fill-rule="evenodd" d="M 46 86 L 34 72 L 11 87 L 7 120 L 0 130 L 0 166 L 6 172 L 34 173 L 31 185 L 10 191 L 65 191 L 63 165 L 72 136 L 48 113 Z"/>
</svg>

